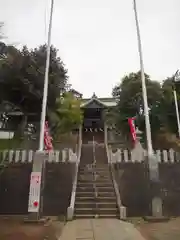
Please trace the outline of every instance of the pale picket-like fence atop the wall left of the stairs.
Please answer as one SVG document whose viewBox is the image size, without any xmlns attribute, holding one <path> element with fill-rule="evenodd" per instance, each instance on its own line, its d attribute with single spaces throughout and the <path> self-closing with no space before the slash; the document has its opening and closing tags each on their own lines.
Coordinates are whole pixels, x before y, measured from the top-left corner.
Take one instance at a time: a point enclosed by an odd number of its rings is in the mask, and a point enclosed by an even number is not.
<svg viewBox="0 0 180 240">
<path fill-rule="evenodd" d="M 34 157 L 32 150 L 4 150 L 0 152 L 0 164 L 9 163 L 31 163 Z M 48 162 L 77 162 L 77 154 L 72 149 L 47 152 Z"/>
</svg>

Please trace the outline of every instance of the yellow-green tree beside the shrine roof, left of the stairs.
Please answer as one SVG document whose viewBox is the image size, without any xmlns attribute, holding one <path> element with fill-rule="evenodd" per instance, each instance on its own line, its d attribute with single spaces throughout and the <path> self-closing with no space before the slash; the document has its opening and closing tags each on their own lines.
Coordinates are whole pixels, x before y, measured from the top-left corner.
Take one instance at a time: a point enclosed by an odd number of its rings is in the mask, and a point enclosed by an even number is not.
<svg viewBox="0 0 180 240">
<path fill-rule="evenodd" d="M 49 114 L 55 138 L 58 138 L 61 133 L 71 132 L 82 124 L 83 114 L 80 104 L 81 100 L 74 97 L 71 92 L 64 93 L 57 99 L 55 112 Z"/>
</svg>

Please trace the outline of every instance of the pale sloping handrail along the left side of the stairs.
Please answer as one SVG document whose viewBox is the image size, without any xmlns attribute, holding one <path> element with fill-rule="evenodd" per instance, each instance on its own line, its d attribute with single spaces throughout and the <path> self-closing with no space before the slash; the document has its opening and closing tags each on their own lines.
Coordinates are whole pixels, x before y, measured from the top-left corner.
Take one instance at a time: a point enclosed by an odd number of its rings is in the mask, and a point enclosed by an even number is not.
<svg viewBox="0 0 180 240">
<path fill-rule="evenodd" d="M 78 178 L 78 170 L 79 170 L 79 163 L 81 158 L 81 148 L 82 148 L 82 127 L 79 128 L 79 146 L 78 146 L 78 157 L 77 162 L 75 164 L 75 174 L 73 179 L 73 186 L 71 192 L 71 201 L 70 205 L 67 209 L 67 220 L 72 220 L 74 215 L 74 205 L 75 205 L 75 198 L 76 198 L 76 188 L 77 188 L 77 178 Z"/>
</svg>

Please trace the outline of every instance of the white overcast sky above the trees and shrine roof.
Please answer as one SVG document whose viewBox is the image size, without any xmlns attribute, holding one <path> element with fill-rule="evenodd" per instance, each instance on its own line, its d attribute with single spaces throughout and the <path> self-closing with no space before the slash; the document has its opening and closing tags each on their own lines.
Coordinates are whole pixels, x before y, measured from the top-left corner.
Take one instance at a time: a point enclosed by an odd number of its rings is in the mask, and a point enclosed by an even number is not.
<svg viewBox="0 0 180 240">
<path fill-rule="evenodd" d="M 132 0 L 55 0 L 52 44 L 84 97 L 111 95 L 139 58 Z M 0 0 L 9 43 L 46 41 L 50 0 Z M 180 68 L 180 0 L 137 0 L 145 71 L 161 81 Z"/>
</svg>

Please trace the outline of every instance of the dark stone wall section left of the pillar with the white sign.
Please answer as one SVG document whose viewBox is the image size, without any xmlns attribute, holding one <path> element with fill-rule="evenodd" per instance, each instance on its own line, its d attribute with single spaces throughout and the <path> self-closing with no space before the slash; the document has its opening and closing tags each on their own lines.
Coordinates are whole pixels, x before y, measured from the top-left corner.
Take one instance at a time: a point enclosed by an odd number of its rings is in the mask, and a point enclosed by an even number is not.
<svg viewBox="0 0 180 240">
<path fill-rule="evenodd" d="M 0 168 L 0 214 L 27 214 L 32 163 Z"/>
</svg>

